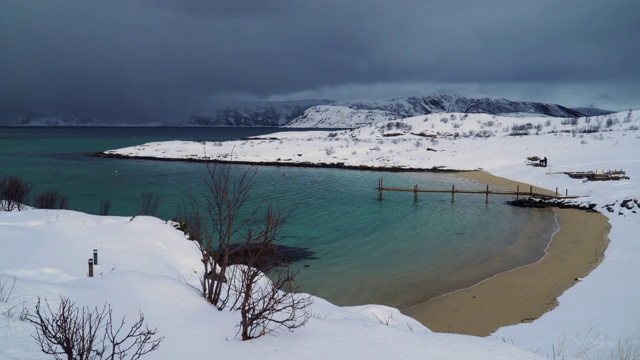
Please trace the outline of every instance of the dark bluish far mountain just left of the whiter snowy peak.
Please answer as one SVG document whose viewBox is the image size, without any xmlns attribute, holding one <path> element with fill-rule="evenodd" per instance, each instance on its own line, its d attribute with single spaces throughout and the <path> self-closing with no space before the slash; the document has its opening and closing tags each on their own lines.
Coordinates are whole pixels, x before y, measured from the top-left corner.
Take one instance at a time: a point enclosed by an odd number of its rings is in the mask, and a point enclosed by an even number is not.
<svg viewBox="0 0 640 360">
<path fill-rule="evenodd" d="M 308 108 L 332 100 L 238 102 L 192 115 L 179 126 L 283 126 Z"/>
</svg>

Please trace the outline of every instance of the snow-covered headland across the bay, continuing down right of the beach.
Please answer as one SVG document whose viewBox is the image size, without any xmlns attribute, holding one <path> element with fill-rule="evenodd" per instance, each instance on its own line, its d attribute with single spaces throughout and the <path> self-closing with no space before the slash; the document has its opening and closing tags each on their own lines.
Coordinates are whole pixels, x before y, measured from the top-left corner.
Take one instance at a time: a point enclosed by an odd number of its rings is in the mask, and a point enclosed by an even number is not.
<svg viewBox="0 0 640 360">
<path fill-rule="evenodd" d="M 489 338 L 548 357 L 608 358 L 624 346 L 640 351 L 639 129 L 637 110 L 577 119 L 441 113 L 353 130 L 279 132 L 225 143 L 151 143 L 106 153 L 186 159 L 206 154 L 226 161 L 305 166 L 482 169 L 579 195 L 576 204 L 595 206 L 612 225 L 603 263 L 566 291 L 553 311 Z M 548 167 L 530 166 L 530 156 L 547 157 Z M 586 181 L 565 174 L 609 170 L 623 170 L 629 179 Z"/>
</svg>

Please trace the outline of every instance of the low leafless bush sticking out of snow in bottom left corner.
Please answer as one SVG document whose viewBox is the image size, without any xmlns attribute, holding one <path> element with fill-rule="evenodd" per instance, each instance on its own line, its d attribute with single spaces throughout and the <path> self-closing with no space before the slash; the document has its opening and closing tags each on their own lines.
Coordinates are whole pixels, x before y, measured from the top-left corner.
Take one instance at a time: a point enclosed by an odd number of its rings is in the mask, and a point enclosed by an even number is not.
<svg viewBox="0 0 640 360">
<path fill-rule="evenodd" d="M 157 329 L 149 329 L 140 313 L 138 321 L 125 330 L 125 318 L 114 324 L 111 305 L 101 310 L 95 307 L 79 309 L 69 298 L 60 296 L 58 310 L 54 311 L 40 298 L 35 315 L 27 316 L 35 329 L 33 338 L 40 350 L 55 359 L 131 359 L 136 360 L 160 346 L 164 337 L 156 337 Z"/>
</svg>

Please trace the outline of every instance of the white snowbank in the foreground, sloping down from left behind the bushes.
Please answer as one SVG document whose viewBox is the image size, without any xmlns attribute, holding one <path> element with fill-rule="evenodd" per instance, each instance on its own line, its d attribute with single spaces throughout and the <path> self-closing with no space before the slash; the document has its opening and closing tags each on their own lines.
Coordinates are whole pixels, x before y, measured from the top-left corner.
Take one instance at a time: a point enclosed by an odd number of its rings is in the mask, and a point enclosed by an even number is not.
<svg viewBox="0 0 640 360">
<path fill-rule="evenodd" d="M 240 341 L 240 316 L 220 312 L 189 285 L 197 284 L 199 252 L 182 232 L 152 217 L 100 217 L 66 210 L 0 212 L 0 359 L 48 359 L 19 320 L 37 297 L 55 308 L 59 296 L 78 306 L 105 302 L 128 324 L 142 311 L 164 336 L 145 359 L 534 359 L 501 341 L 435 334 L 397 310 L 338 307 L 315 299 L 313 317 L 295 332 Z M 89 278 L 87 259 L 98 249 Z M 13 315 L 11 315 L 13 313 Z M 383 319 L 383 324 L 379 319 Z M 386 322 L 389 321 L 387 325 Z"/>
</svg>

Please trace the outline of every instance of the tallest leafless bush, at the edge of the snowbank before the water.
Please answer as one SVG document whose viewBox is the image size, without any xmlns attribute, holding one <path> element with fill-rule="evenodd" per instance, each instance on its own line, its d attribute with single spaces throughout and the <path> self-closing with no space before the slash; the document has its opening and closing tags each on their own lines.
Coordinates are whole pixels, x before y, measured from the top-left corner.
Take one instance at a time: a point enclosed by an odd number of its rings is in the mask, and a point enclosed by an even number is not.
<svg viewBox="0 0 640 360">
<path fill-rule="evenodd" d="M 294 294 L 295 273 L 279 260 L 277 241 L 291 213 L 267 206 L 261 216 L 260 205 L 244 211 L 255 170 L 234 180 L 231 169 L 207 166 L 205 204 L 192 200 L 189 211 L 178 214 L 202 257 L 200 292 L 218 310 L 239 310 L 243 340 L 280 327 L 293 330 L 306 323 L 311 298 Z M 273 280 L 264 275 L 268 271 Z"/>
</svg>

